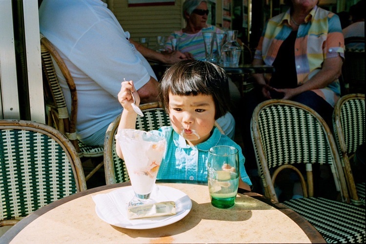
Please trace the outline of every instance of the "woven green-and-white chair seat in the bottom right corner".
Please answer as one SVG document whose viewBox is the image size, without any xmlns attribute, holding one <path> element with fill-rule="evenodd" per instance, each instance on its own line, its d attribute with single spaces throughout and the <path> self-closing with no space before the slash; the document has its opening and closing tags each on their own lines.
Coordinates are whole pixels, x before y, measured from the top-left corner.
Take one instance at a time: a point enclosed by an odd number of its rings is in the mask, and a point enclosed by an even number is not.
<svg viewBox="0 0 366 244">
<path fill-rule="evenodd" d="M 310 222 L 327 243 L 366 242 L 365 208 L 325 198 L 293 199 L 284 204 Z"/>
</svg>

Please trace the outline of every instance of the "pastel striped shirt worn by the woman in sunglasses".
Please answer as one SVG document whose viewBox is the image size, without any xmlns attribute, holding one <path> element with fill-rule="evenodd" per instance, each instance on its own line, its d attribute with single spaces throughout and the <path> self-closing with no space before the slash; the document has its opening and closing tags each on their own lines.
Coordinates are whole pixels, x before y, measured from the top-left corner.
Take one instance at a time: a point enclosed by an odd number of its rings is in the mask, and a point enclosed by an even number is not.
<svg viewBox="0 0 366 244">
<path fill-rule="evenodd" d="M 182 53 L 188 52 L 193 55 L 196 60 L 204 60 L 204 42 L 202 32 L 216 32 L 216 33 L 225 33 L 223 30 L 217 28 L 213 25 L 207 25 L 207 27 L 203 28 L 200 32 L 195 34 L 187 34 L 183 33 L 182 30 L 174 31 L 168 37 L 168 40 L 165 43 L 165 50 L 172 50 L 172 41 L 171 39 L 178 39 L 178 47 L 177 50 Z M 214 45 L 213 53 L 217 52 L 217 47 Z"/>
</svg>

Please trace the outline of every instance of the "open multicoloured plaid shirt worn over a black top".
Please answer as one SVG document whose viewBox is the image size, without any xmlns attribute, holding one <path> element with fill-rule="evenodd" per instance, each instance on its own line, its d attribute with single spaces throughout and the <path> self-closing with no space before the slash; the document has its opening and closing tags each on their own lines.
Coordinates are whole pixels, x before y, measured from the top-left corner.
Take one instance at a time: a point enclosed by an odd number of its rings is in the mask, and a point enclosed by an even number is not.
<svg viewBox="0 0 366 244">
<path fill-rule="evenodd" d="M 290 35 L 290 10 L 268 20 L 254 58 L 272 65 L 278 50 Z M 344 59 L 344 38 L 339 17 L 315 6 L 299 26 L 295 41 L 295 67 L 298 85 L 318 73 L 325 59 L 340 55 Z M 313 90 L 330 105 L 337 102 L 341 87 L 338 79 L 327 87 Z"/>
</svg>

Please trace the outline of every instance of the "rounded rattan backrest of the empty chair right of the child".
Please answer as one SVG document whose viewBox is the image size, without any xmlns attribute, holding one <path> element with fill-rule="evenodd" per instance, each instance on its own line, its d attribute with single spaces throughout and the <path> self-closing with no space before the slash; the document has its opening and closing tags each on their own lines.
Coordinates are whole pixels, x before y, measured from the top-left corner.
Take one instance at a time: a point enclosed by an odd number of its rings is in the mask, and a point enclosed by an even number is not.
<svg viewBox="0 0 366 244">
<path fill-rule="evenodd" d="M 324 120 L 309 107 L 287 100 L 260 103 L 251 120 L 253 145 L 265 194 L 278 201 L 269 172 L 284 164 L 327 164 L 338 191 L 349 201 L 337 148 Z M 264 168 L 265 167 L 265 168 Z M 265 170 L 264 170 L 265 169 Z M 312 182 L 309 182 L 312 195 Z"/>
</svg>

